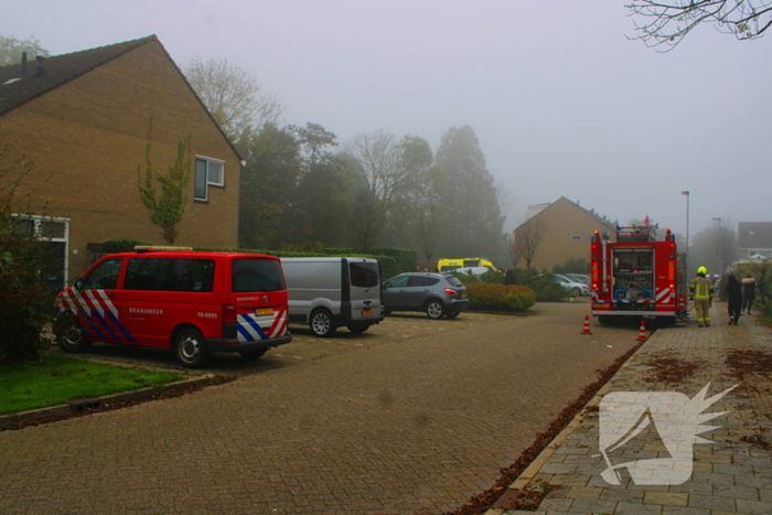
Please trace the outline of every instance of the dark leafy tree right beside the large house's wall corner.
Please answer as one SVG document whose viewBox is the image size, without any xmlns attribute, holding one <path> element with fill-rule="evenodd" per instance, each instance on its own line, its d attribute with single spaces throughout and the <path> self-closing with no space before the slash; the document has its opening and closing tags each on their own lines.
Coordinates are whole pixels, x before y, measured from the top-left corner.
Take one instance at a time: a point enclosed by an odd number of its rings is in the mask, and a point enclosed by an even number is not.
<svg viewBox="0 0 772 515">
<path fill-rule="evenodd" d="M 280 248 L 296 216 L 301 173 L 300 141 L 292 128 L 266 124 L 251 135 L 242 153 L 239 245 Z"/>
</svg>

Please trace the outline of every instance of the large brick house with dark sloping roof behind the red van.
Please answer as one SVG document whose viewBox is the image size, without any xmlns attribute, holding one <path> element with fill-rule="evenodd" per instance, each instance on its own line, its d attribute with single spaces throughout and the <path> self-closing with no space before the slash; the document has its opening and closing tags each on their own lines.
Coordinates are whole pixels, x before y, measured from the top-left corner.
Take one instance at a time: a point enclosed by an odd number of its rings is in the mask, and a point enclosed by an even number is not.
<svg viewBox="0 0 772 515">
<path fill-rule="evenodd" d="M 165 244 L 139 195 L 148 141 L 153 171 L 165 174 L 180 138 L 190 136 L 192 171 L 174 244 L 238 246 L 240 158 L 158 37 L 25 57 L 0 67 L 0 169 L 33 162 L 18 197 L 28 194 L 24 213 L 39 215 L 25 223 L 61 247 L 64 282 L 88 267 L 94 244 Z"/>
</svg>

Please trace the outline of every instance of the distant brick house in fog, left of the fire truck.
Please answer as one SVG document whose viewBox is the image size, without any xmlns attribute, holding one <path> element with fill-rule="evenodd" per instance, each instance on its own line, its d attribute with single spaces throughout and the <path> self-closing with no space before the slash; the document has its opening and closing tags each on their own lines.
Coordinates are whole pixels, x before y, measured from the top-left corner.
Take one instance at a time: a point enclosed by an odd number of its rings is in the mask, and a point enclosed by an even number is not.
<svg viewBox="0 0 772 515">
<path fill-rule="evenodd" d="M 561 196 L 553 203 L 528 206 L 528 219 L 514 230 L 515 247 L 525 245 L 535 250 L 530 267 L 537 270 L 551 270 L 569 259 L 589 262 L 590 236 L 596 229 L 616 240 L 615 223 Z M 524 244 L 528 240 L 532 243 Z M 525 268 L 525 260 L 518 257 L 515 266 Z"/>
</svg>

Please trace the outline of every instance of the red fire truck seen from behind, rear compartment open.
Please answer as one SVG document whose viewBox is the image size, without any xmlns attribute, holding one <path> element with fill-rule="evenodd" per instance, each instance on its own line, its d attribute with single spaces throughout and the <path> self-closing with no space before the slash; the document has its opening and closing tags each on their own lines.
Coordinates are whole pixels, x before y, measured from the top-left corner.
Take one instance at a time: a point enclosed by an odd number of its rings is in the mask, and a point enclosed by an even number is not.
<svg viewBox="0 0 772 515">
<path fill-rule="evenodd" d="M 592 314 L 601 323 L 611 316 L 656 316 L 664 322 L 686 318 L 686 270 L 675 235 L 657 227 L 618 227 L 616 242 L 596 230 L 590 243 Z"/>
</svg>

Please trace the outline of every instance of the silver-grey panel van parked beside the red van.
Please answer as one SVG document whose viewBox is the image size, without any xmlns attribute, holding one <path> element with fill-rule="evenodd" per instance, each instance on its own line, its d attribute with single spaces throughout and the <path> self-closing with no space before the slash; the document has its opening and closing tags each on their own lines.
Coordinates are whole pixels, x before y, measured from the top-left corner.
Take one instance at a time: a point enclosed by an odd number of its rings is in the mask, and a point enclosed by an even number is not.
<svg viewBox="0 0 772 515">
<path fill-rule="evenodd" d="M 363 333 L 384 320 L 380 270 L 360 257 L 281 258 L 290 323 L 308 324 L 317 336 L 345 325 Z"/>
</svg>

